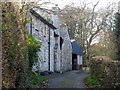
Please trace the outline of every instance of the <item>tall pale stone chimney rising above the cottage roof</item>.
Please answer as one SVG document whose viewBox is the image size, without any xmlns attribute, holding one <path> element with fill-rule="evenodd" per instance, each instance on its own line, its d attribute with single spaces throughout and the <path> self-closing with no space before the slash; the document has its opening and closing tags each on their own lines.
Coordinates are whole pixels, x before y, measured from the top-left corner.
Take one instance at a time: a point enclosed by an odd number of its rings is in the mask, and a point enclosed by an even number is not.
<svg viewBox="0 0 120 90">
<path fill-rule="evenodd" d="M 55 7 L 52 7 L 53 15 L 52 15 L 52 21 L 53 25 L 57 28 L 56 33 L 59 35 L 59 30 L 60 30 L 60 17 L 59 17 L 59 11 L 60 8 L 56 4 Z"/>
</svg>

